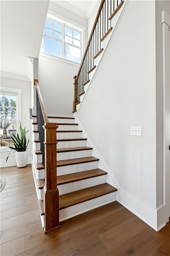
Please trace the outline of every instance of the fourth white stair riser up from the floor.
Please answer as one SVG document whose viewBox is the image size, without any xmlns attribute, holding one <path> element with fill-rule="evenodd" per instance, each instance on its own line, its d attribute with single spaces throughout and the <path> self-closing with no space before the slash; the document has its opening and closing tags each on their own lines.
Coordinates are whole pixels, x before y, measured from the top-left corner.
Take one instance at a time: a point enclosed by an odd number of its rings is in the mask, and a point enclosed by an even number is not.
<svg viewBox="0 0 170 256">
<path fill-rule="evenodd" d="M 89 157 L 89 156 L 92 156 L 92 150 L 62 152 L 62 153 L 57 153 L 57 161 L 73 159 L 73 158 Z M 36 158 L 36 163 L 42 163 L 42 155 L 35 154 L 35 158 Z"/>
</svg>

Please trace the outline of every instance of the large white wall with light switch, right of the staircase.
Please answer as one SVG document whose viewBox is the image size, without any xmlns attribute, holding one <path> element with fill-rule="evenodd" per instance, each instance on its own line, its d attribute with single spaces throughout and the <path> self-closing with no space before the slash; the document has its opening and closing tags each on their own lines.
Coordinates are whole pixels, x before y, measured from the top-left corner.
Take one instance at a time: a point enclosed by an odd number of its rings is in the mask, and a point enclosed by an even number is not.
<svg viewBox="0 0 170 256">
<path fill-rule="evenodd" d="M 144 210 L 156 211 L 155 66 L 155 2 L 129 1 L 77 118 L 119 184 L 120 202 L 156 229 L 156 215 Z M 130 126 L 142 126 L 142 136 L 130 136 Z"/>
</svg>

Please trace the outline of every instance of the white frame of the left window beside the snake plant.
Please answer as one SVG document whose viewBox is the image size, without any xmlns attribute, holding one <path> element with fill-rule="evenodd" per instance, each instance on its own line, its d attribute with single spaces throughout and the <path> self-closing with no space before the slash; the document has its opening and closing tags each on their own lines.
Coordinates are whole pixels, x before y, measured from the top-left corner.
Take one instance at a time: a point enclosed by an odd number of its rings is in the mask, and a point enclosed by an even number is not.
<svg viewBox="0 0 170 256">
<path fill-rule="evenodd" d="M 19 129 L 19 121 L 21 121 L 21 89 L 17 88 L 10 88 L 10 87 L 0 87 L 0 93 L 2 94 L 16 94 L 17 95 L 17 104 L 16 104 L 16 132 L 18 132 Z M 7 152 L 11 149 L 8 146 L 2 146 L 0 147 L 0 152 Z"/>
</svg>

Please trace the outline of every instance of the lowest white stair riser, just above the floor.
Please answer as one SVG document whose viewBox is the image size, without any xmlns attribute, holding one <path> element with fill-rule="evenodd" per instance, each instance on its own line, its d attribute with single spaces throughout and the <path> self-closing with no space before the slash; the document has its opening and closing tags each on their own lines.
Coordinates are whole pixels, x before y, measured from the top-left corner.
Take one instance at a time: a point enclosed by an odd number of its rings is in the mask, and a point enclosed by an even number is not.
<svg viewBox="0 0 170 256">
<path fill-rule="evenodd" d="M 65 209 L 59 210 L 59 221 L 69 219 L 73 216 L 87 212 L 94 208 L 116 201 L 116 192 L 100 196 L 86 202 L 76 204 Z"/>
</svg>

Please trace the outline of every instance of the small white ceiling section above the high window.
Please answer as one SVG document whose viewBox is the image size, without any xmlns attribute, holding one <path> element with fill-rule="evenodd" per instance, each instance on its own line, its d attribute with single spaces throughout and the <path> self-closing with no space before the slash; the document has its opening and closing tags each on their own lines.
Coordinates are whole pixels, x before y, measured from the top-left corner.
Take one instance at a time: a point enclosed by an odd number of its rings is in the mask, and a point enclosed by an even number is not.
<svg viewBox="0 0 170 256">
<path fill-rule="evenodd" d="M 97 1 L 100 0 L 51 0 L 52 2 L 66 8 L 67 10 L 88 19 Z"/>
</svg>

